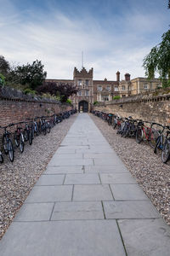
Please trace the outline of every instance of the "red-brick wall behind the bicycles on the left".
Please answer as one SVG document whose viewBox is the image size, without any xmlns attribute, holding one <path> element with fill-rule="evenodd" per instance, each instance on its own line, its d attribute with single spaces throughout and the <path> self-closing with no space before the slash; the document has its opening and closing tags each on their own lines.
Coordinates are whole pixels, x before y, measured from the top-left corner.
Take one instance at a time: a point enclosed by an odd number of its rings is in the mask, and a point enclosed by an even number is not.
<svg viewBox="0 0 170 256">
<path fill-rule="evenodd" d="M 37 116 L 50 116 L 70 109 L 69 104 L 61 104 L 38 96 L 26 96 L 21 91 L 9 87 L 0 88 L 0 126 Z M 13 126 L 8 131 L 13 132 L 15 128 Z M 0 148 L 2 148 L 2 135 L 3 129 L 0 128 Z"/>
</svg>

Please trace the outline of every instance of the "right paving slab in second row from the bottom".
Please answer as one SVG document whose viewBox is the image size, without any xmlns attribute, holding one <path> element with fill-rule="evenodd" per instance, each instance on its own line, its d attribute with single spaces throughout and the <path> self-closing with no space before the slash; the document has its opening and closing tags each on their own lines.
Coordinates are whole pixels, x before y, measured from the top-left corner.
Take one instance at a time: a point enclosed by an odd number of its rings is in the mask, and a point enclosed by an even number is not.
<svg viewBox="0 0 170 256">
<path fill-rule="evenodd" d="M 161 218 L 150 201 L 104 201 L 105 218 Z"/>
</svg>

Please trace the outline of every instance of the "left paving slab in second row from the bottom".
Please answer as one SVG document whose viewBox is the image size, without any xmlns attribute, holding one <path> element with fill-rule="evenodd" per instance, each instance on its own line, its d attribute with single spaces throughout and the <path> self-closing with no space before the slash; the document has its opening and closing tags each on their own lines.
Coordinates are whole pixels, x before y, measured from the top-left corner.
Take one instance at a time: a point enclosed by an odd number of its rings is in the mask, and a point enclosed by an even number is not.
<svg viewBox="0 0 170 256">
<path fill-rule="evenodd" d="M 20 208 L 14 221 L 45 221 L 49 220 L 54 203 L 27 203 Z"/>
</svg>

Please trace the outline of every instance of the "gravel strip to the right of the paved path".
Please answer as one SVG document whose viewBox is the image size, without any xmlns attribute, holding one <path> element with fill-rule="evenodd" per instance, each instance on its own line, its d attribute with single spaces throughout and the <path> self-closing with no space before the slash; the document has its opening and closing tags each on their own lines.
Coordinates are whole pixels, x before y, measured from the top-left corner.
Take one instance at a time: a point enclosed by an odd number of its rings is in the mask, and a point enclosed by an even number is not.
<svg viewBox="0 0 170 256">
<path fill-rule="evenodd" d="M 161 162 L 161 152 L 154 154 L 148 143 L 136 143 L 133 138 L 122 138 L 102 119 L 90 115 L 129 172 L 150 198 L 167 224 L 170 224 L 170 161 Z"/>
</svg>

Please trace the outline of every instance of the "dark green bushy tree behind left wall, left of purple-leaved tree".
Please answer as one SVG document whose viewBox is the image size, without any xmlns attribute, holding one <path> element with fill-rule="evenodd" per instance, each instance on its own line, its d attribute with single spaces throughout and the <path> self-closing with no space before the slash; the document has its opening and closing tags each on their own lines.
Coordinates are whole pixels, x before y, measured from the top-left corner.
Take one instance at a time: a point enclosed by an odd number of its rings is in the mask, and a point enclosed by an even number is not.
<svg viewBox="0 0 170 256">
<path fill-rule="evenodd" d="M 42 61 L 33 61 L 32 64 L 27 63 L 23 66 L 14 68 L 14 78 L 18 78 L 20 84 L 28 84 L 28 86 L 34 90 L 38 86 L 42 85 L 46 79 L 47 72 L 43 71 Z"/>
</svg>

